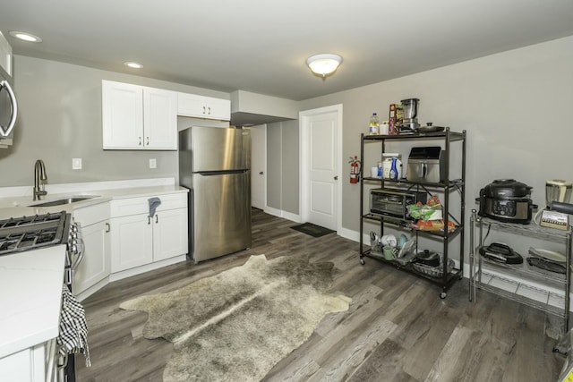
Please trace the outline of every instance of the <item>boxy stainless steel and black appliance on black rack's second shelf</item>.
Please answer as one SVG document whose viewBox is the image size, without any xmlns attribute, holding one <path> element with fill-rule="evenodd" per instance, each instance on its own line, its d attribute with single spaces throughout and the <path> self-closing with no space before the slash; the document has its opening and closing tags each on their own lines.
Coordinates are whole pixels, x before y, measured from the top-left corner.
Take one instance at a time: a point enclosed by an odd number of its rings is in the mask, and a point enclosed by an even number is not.
<svg viewBox="0 0 573 382">
<path fill-rule="evenodd" d="M 441 183 L 446 178 L 444 151 L 440 146 L 412 148 L 406 179 L 411 182 Z"/>
</svg>

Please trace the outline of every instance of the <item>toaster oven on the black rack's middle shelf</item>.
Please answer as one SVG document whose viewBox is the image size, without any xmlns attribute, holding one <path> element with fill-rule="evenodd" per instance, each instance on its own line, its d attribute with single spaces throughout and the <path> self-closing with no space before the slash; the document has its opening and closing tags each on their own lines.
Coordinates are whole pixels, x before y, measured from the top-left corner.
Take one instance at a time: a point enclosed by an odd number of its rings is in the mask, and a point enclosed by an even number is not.
<svg viewBox="0 0 573 382">
<path fill-rule="evenodd" d="M 370 212 L 386 216 L 410 219 L 408 206 L 418 201 L 425 203 L 428 196 L 425 192 L 400 189 L 372 189 L 370 191 Z"/>
</svg>

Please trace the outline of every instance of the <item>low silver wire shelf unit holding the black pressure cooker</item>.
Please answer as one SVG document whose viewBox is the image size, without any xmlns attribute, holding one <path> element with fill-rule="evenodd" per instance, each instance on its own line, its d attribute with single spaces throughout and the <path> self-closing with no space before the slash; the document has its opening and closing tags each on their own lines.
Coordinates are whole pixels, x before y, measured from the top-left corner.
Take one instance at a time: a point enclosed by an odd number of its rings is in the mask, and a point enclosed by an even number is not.
<svg viewBox="0 0 573 382">
<path fill-rule="evenodd" d="M 472 210 L 470 217 L 470 295 L 475 301 L 476 290 L 482 289 L 496 293 L 512 301 L 543 310 L 563 318 L 564 332 L 569 330 L 569 288 L 571 284 L 571 228 L 559 230 L 535 224 L 515 224 L 501 222 L 490 217 L 478 216 Z M 479 254 L 485 237 L 484 229 L 494 229 L 500 233 L 515 235 L 517 240 L 523 237 L 540 239 L 552 243 L 562 243 L 565 252 L 565 273 L 546 271 L 530 266 L 527 261 L 521 264 L 505 264 Z M 475 231 L 478 231 L 477 236 Z M 487 236 L 487 233 L 486 233 Z M 477 242 L 476 242 L 477 239 Z M 523 281 L 519 281 L 523 280 Z M 556 291 L 562 291 L 557 293 Z M 555 292 L 554 292 L 555 291 Z"/>
</svg>

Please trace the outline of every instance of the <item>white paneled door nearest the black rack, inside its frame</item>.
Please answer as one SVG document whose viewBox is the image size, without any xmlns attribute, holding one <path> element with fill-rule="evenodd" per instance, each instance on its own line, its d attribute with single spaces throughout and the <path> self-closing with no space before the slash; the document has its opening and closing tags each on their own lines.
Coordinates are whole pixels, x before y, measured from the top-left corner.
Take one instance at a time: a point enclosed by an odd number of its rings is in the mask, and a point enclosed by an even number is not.
<svg viewBox="0 0 573 382">
<path fill-rule="evenodd" d="M 302 217 L 338 231 L 341 106 L 301 113 Z"/>
</svg>

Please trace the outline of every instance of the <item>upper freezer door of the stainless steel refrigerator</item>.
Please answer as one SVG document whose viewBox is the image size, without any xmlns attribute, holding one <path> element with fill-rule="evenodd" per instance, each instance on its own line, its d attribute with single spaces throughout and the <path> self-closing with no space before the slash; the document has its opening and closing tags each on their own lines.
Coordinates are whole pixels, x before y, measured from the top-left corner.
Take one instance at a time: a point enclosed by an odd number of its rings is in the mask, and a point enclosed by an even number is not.
<svg viewBox="0 0 573 382">
<path fill-rule="evenodd" d="M 192 126 L 184 134 L 192 151 L 192 172 L 249 168 L 250 131 Z M 190 136 L 187 136 L 190 134 Z"/>
</svg>

